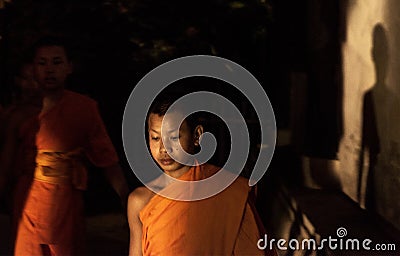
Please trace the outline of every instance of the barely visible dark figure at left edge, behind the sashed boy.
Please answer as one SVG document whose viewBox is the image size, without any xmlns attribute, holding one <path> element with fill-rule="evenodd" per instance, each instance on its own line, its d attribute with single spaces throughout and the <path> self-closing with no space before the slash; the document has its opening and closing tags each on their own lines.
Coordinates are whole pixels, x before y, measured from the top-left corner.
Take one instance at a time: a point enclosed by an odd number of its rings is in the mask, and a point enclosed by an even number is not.
<svg viewBox="0 0 400 256">
<path fill-rule="evenodd" d="M 2 116 L 0 152 L 0 196 L 6 195 L 5 207 L 11 215 L 11 242 L 34 170 L 34 137 L 25 132 L 25 127 L 39 114 L 42 97 L 33 78 L 32 63 L 23 61 L 19 65 L 14 85 L 15 98 Z"/>
</svg>

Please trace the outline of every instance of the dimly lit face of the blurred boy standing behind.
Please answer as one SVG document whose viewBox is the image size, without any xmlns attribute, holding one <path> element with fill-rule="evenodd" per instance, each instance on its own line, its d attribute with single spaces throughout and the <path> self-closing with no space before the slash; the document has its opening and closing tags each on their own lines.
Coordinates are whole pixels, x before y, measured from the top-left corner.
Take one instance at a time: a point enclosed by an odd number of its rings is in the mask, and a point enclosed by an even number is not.
<svg viewBox="0 0 400 256">
<path fill-rule="evenodd" d="M 72 65 L 62 46 L 42 46 L 36 50 L 33 60 L 36 81 L 45 90 L 64 87 Z"/>
</svg>

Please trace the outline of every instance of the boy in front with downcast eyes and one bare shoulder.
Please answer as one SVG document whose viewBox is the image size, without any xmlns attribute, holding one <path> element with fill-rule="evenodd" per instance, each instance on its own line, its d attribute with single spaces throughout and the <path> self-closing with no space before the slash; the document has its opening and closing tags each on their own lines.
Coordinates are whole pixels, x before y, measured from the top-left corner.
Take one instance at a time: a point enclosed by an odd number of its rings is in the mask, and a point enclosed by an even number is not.
<svg viewBox="0 0 400 256">
<path fill-rule="evenodd" d="M 179 108 L 167 113 L 172 103 L 168 96 L 156 99 L 147 120 L 149 149 L 164 173 L 151 181 L 156 192 L 179 189 L 170 177 L 198 181 L 220 171 L 208 163 L 191 166 L 196 160 L 184 153 L 196 152 L 203 126 L 189 116 L 174 130 L 182 113 Z M 128 198 L 130 255 L 275 255 L 257 247 L 263 234 L 249 192 L 242 177 L 219 194 L 197 201 L 168 199 L 138 187 Z"/>
</svg>

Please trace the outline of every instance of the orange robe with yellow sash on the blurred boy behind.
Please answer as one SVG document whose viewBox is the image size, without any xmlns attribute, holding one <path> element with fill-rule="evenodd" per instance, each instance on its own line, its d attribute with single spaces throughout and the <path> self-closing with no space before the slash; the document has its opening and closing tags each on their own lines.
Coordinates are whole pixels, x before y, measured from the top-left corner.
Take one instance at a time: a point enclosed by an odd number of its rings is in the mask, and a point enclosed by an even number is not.
<svg viewBox="0 0 400 256">
<path fill-rule="evenodd" d="M 80 149 L 83 156 L 98 167 L 108 167 L 118 162 L 97 104 L 86 96 L 65 90 L 60 102 L 39 116 L 39 125 L 36 134 L 39 153 L 61 154 L 60 159 L 65 160 L 71 152 Z M 76 255 L 80 251 L 79 243 L 84 233 L 82 190 L 77 188 L 84 188 L 85 184 L 76 186 L 73 182 L 79 180 L 73 169 L 78 168 L 77 165 L 71 165 L 68 174 L 66 167 L 57 169 L 67 166 L 67 163 L 50 164 L 50 168 L 56 169 L 49 171 L 45 166 L 49 161 L 44 160 L 39 154 L 36 156 L 35 178 L 18 225 L 15 254 Z M 46 175 L 51 178 L 46 178 Z M 57 181 L 58 175 L 63 176 L 60 182 Z M 71 178 L 71 182 L 65 182 L 65 175 Z M 82 172 L 82 176 L 85 175 Z M 44 252 L 43 248 L 49 251 Z"/>
</svg>

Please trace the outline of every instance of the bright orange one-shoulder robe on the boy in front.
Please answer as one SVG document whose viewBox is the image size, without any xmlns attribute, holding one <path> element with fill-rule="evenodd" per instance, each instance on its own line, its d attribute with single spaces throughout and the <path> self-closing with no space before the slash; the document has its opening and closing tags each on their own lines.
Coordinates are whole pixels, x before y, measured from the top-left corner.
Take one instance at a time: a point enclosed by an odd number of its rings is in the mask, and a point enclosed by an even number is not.
<svg viewBox="0 0 400 256">
<path fill-rule="evenodd" d="M 205 179 L 218 170 L 210 164 L 195 166 L 180 180 Z M 155 195 L 140 212 L 143 254 L 265 255 L 257 248 L 261 234 L 249 191 L 247 180 L 239 177 L 221 193 L 199 201 Z"/>
</svg>

